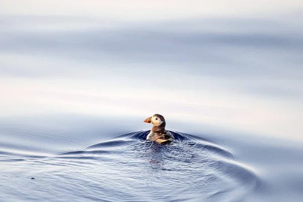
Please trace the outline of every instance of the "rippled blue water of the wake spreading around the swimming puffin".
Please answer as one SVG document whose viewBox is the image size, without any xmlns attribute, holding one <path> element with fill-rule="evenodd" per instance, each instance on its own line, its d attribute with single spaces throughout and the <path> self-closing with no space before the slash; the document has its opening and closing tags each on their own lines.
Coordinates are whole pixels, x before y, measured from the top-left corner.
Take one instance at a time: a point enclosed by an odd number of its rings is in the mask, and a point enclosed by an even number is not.
<svg viewBox="0 0 303 202">
<path fill-rule="evenodd" d="M 5 127 L 1 131 L 20 137 L 41 133 Z M 4 144 L 0 157 L 1 168 L 6 169 L 0 176 L 0 200 L 243 201 L 259 197 L 262 180 L 254 169 L 239 163 L 228 147 L 180 132 L 173 132 L 173 143 L 160 145 L 145 139 L 148 132 L 88 141 L 68 150 L 34 151 Z M 68 141 L 72 136 L 43 132 L 41 144 L 49 145 L 48 138 Z"/>
</svg>

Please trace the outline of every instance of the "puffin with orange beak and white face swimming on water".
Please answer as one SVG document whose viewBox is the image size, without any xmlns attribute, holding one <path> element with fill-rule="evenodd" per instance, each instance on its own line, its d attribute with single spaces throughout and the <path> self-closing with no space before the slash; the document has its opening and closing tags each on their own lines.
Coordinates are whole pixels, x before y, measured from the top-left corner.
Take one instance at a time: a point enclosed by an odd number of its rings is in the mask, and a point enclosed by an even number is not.
<svg viewBox="0 0 303 202">
<path fill-rule="evenodd" d="M 147 140 L 155 141 L 161 144 L 167 144 L 175 139 L 174 135 L 171 132 L 165 130 L 166 122 L 162 115 L 155 114 L 152 117 L 148 117 L 143 122 L 152 123 L 154 125 L 146 137 Z"/>
</svg>

